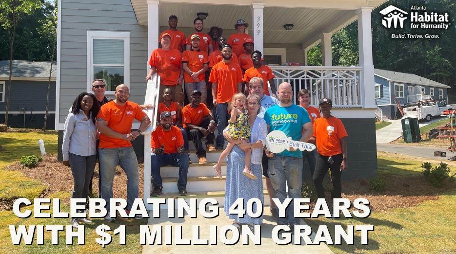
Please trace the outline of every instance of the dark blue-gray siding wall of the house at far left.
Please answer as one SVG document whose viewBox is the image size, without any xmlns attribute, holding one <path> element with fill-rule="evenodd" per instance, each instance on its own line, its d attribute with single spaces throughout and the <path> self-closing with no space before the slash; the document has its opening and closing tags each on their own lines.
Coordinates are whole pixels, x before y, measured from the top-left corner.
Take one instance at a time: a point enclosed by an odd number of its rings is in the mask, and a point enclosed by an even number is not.
<svg viewBox="0 0 456 254">
<path fill-rule="evenodd" d="M 8 81 L 5 81 L 5 102 L 0 102 L 0 111 L 5 111 Z M 46 111 L 48 81 L 23 81 L 11 82 L 11 97 L 9 111 Z M 49 97 L 49 111 L 54 111 L 56 106 L 56 82 L 51 81 Z M 68 109 L 67 109 L 68 110 Z"/>
</svg>

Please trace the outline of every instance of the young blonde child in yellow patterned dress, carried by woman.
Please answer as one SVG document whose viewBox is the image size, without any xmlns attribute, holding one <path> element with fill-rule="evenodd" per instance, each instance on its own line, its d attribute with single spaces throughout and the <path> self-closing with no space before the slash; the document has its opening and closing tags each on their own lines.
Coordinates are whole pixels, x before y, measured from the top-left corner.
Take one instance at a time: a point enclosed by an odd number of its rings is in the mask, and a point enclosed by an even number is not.
<svg viewBox="0 0 456 254">
<path fill-rule="evenodd" d="M 245 139 L 249 140 L 250 138 L 250 124 L 249 124 L 249 116 L 245 113 L 245 95 L 243 93 L 236 93 L 233 96 L 232 100 L 232 110 L 231 110 L 231 118 L 228 120 L 228 132 L 232 139 L 239 140 Z M 221 179 L 221 164 L 223 159 L 231 152 L 233 147 L 235 146 L 234 143 L 228 143 L 225 150 L 218 158 L 218 163 L 214 165 L 214 170 L 217 172 L 218 177 Z M 244 155 L 244 163 L 245 168 L 242 174 L 250 179 L 257 179 L 257 177 L 253 174 L 250 170 L 250 158 L 251 158 L 251 150 L 245 152 Z"/>
</svg>

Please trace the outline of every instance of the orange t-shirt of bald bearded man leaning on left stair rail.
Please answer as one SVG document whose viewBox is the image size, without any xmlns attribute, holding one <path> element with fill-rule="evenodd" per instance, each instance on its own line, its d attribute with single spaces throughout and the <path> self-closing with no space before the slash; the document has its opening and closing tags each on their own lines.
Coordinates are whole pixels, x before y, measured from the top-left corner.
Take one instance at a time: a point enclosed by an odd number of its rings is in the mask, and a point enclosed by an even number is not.
<svg viewBox="0 0 456 254">
<path fill-rule="evenodd" d="M 133 119 L 141 121 L 146 113 L 142 111 L 138 104 L 127 101 L 125 105 L 119 106 L 115 101 L 110 101 L 101 106 L 97 115 L 97 119 L 101 118 L 108 122 L 108 127 L 112 130 L 121 133 L 131 133 L 131 126 Z M 118 147 L 131 147 L 130 141 L 112 138 L 100 134 L 99 148 L 118 148 Z"/>
</svg>

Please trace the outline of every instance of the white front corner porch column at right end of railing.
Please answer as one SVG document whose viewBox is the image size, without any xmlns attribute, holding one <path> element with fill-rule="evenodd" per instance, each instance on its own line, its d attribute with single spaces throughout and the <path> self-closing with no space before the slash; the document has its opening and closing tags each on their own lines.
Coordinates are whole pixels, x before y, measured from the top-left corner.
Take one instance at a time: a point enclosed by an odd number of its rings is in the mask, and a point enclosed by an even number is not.
<svg viewBox="0 0 456 254">
<path fill-rule="evenodd" d="M 371 7 L 361 7 L 358 15 L 358 47 L 362 104 L 366 108 L 375 107 L 374 64 L 372 62 Z"/>
</svg>

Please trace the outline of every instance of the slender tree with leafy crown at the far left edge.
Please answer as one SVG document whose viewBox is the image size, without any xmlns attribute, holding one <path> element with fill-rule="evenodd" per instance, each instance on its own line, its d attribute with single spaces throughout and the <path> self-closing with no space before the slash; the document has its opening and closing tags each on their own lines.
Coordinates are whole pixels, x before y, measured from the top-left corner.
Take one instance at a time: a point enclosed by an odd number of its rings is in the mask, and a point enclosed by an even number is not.
<svg viewBox="0 0 456 254">
<path fill-rule="evenodd" d="M 10 62 L 9 62 L 9 79 L 8 92 L 6 93 L 5 125 L 8 125 L 8 111 L 11 97 L 11 77 L 13 68 L 14 40 L 16 37 L 16 28 L 18 27 L 24 15 L 32 14 L 40 8 L 40 0 L 0 0 L 0 23 L 4 30 L 7 31 L 9 38 Z"/>
</svg>

